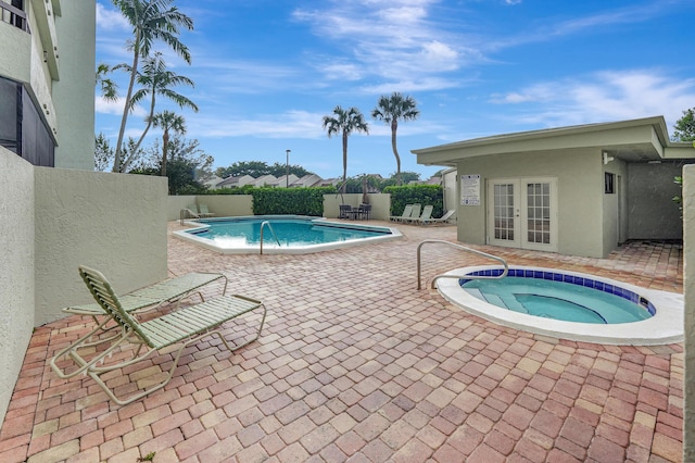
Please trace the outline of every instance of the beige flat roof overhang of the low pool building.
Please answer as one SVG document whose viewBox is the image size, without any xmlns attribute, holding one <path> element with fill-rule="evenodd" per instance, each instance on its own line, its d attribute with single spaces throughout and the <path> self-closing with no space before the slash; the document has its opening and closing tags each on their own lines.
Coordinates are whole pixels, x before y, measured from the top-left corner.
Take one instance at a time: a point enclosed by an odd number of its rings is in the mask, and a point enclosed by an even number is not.
<svg viewBox="0 0 695 463">
<path fill-rule="evenodd" d="M 664 116 L 504 134 L 412 152 L 418 164 L 455 165 L 464 159 L 492 154 L 577 149 L 595 149 L 628 162 L 695 158 L 691 143 L 669 140 Z"/>
</svg>

